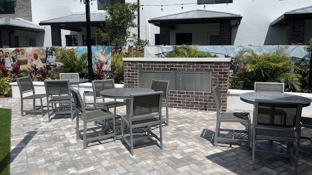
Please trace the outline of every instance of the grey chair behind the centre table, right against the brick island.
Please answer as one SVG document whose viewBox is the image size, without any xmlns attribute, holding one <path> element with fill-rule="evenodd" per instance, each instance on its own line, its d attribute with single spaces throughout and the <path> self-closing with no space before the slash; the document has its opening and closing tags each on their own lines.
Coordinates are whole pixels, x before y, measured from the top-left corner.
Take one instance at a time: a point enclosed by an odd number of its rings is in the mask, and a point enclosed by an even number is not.
<svg viewBox="0 0 312 175">
<path fill-rule="evenodd" d="M 166 124 L 169 124 L 169 114 L 168 114 L 168 95 L 169 95 L 169 86 L 170 81 L 167 80 L 152 80 L 151 82 L 151 89 L 155 91 L 163 91 L 163 103 L 162 107 L 166 107 L 166 118 L 163 119 L 163 121 L 166 121 Z"/>
</svg>

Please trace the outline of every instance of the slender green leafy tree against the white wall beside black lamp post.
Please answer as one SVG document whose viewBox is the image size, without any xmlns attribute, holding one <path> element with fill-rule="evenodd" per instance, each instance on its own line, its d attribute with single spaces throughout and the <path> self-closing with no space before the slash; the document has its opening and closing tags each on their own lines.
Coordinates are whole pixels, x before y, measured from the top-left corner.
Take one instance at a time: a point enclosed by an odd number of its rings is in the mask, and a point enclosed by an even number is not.
<svg viewBox="0 0 312 175">
<path fill-rule="evenodd" d="M 98 29 L 99 39 L 108 42 L 113 46 L 125 46 L 127 42 L 134 44 L 148 44 L 148 40 L 137 39 L 137 35 L 131 35 L 131 29 L 137 28 L 138 25 L 134 22 L 137 18 L 138 3 L 115 3 L 114 5 L 106 4 L 106 11 L 109 17 L 106 17 L 105 32 Z"/>
</svg>

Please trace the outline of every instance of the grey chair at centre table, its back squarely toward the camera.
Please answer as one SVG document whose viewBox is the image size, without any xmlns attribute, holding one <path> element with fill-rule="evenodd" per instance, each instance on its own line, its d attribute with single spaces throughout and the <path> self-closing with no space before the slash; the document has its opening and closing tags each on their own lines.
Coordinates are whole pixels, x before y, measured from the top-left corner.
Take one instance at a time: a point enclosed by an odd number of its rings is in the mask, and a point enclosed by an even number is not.
<svg viewBox="0 0 312 175">
<path fill-rule="evenodd" d="M 126 136 L 125 128 L 121 127 L 121 141 L 130 146 L 131 155 L 134 155 L 134 141 L 156 138 L 160 142 L 162 150 L 162 117 L 161 103 L 162 91 L 135 93 L 130 96 L 130 113 L 121 116 L 121 126 L 127 125 L 129 136 Z M 152 131 L 152 126 L 157 125 L 159 136 Z M 159 125 L 159 126 L 158 126 Z M 135 128 L 147 127 L 143 136 L 133 136 Z"/>
</svg>

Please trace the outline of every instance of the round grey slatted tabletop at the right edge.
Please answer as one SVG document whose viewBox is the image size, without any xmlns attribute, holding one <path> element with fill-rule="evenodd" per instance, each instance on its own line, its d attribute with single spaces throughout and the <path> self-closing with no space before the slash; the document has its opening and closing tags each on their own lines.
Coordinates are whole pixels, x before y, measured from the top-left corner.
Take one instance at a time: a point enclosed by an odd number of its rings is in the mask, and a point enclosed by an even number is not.
<svg viewBox="0 0 312 175">
<path fill-rule="evenodd" d="M 246 92 L 240 94 L 239 97 L 240 100 L 249 104 L 254 104 L 255 99 L 301 101 L 303 102 L 304 107 L 309 106 L 311 104 L 311 99 L 308 99 L 306 97 L 279 92 Z"/>
</svg>

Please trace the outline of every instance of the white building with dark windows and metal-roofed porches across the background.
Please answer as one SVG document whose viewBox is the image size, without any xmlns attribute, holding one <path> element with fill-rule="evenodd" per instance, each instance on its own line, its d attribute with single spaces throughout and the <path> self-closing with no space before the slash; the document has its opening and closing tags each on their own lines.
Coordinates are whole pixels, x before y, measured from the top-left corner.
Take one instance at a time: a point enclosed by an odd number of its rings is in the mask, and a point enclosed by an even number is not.
<svg viewBox="0 0 312 175">
<path fill-rule="evenodd" d="M 103 44 L 96 30 L 105 26 L 107 14 L 100 10 L 104 1 L 139 1 L 139 36 L 151 45 L 302 45 L 312 37 L 312 0 L 233 0 L 199 5 L 197 0 L 90 0 L 95 45 Z M 83 1 L 0 2 L 5 4 L 0 7 L 0 47 L 86 44 Z"/>
</svg>

